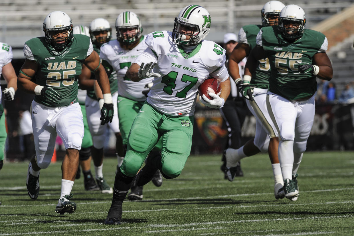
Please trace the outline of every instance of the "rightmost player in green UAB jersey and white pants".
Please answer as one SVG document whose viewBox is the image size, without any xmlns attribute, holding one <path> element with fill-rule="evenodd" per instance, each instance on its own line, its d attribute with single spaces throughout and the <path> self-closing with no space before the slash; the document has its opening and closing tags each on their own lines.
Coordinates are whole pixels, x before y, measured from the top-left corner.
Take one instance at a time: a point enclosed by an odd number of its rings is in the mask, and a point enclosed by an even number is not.
<svg viewBox="0 0 354 236">
<path fill-rule="evenodd" d="M 267 93 L 270 117 L 279 133 L 278 155 L 285 197 L 299 196 L 297 170 L 315 115 L 316 77 L 331 80 L 333 69 L 326 54 L 328 41 L 320 32 L 304 29 L 306 16 L 297 5 L 284 7 L 278 26 L 263 27 L 246 63 L 251 78 L 257 60 L 268 58 L 272 69 Z M 250 88 L 245 88 L 247 93 Z"/>
</svg>

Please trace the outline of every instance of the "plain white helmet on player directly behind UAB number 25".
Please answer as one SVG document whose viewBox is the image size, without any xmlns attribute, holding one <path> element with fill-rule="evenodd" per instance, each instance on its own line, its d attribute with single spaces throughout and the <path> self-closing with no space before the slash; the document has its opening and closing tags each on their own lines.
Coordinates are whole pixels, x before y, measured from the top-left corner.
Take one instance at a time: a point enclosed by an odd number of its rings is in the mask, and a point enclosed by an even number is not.
<svg viewBox="0 0 354 236">
<path fill-rule="evenodd" d="M 107 31 L 107 37 L 96 37 L 94 32 Z M 103 18 L 96 18 L 90 24 L 90 35 L 92 43 L 96 46 L 101 46 L 104 43 L 107 43 L 112 37 L 112 28 L 110 27 L 109 22 Z"/>
</svg>

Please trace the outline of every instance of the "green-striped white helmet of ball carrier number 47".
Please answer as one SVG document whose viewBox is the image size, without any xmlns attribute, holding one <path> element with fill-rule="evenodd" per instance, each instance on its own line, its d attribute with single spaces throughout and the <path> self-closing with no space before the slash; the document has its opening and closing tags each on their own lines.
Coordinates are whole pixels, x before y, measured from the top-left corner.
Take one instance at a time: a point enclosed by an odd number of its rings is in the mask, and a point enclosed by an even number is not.
<svg viewBox="0 0 354 236">
<path fill-rule="evenodd" d="M 175 26 L 172 31 L 173 41 L 178 45 L 198 44 L 209 34 L 210 25 L 210 14 L 204 7 L 198 5 L 186 6 L 175 18 Z M 192 33 L 179 32 L 181 26 L 192 29 Z M 186 36 L 190 36 L 189 40 L 186 40 Z"/>
</svg>

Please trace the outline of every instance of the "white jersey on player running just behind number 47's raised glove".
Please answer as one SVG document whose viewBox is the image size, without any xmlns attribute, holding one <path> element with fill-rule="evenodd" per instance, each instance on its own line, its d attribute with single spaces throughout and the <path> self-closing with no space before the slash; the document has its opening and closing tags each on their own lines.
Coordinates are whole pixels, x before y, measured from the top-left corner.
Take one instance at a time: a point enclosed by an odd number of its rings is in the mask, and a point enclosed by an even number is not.
<svg viewBox="0 0 354 236">
<path fill-rule="evenodd" d="M 147 90 L 145 85 L 152 82 L 153 78 L 142 79 L 139 82 L 133 82 L 127 78 L 126 73 L 130 65 L 148 46 L 142 41 L 132 50 L 123 49 L 118 40 L 111 40 L 107 44 L 102 45 L 99 57 L 107 61 L 117 72 L 118 77 L 118 94 L 135 101 L 145 101 L 146 96 L 142 91 Z"/>
</svg>

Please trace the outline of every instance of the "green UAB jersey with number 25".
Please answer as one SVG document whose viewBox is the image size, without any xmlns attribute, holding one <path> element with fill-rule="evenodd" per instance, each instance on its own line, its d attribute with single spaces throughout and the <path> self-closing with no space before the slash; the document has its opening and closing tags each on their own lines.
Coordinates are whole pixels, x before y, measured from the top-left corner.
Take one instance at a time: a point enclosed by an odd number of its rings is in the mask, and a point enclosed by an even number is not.
<svg viewBox="0 0 354 236">
<path fill-rule="evenodd" d="M 34 100 L 49 107 L 67 106 L 77 102 L 78 76 L 84 60 L 91 54 L 90 50 L 90 38 L 81 34 L 75 34 L 68 49 L 59 53 L 46 43 L 45 37 L 28 40 L 24 54 L 28 60 L 34 60 L 38 64 L 34 75 L 35 83 L 51 86 L 62 95 L 59 104 L 46 100 L 41 95 L 36 95 Z"/>
</svg>

